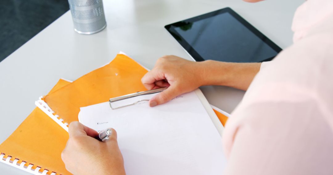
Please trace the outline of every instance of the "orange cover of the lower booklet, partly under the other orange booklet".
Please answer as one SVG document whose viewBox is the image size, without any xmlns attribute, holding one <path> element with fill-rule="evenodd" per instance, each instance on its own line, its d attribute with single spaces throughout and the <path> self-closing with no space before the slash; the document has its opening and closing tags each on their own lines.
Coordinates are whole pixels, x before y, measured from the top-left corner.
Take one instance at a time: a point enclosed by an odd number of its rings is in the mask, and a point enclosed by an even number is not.
<svg viewBox="0 0 333 175">
<path fill-rule="evenodd" d="M 59 80 L 57 85 L 50 91 L 53 92 L 69 82 Z M 68 140 L 68 133 L 55 123 L 39 108 L 35 108 L 21 125 L 0 145 L 3 159 L 11 156 L 10 162 L 19 159 L 17 166 L 26 162 L 25 167 L 33 164 L 42 173 L 45 169 L 47 174 L 70 174 L 61 159 L 61 152 Z M 0 170 L 0 174 L 1 170 Z"/>
</svg>

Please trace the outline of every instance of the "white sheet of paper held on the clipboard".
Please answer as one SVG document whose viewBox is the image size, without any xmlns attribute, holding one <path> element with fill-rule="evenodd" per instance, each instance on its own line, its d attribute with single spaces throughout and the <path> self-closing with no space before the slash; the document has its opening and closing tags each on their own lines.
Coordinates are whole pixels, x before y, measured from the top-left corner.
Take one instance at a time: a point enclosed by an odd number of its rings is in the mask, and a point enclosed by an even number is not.
<svg viewBox="0 0 333 175">
<path fill-rule="evenodd" d="M 148 101 L 114 110 L 109 102 L 82 107 L 79 121 L 96 131 L 117 131 L 128 175 L 217 175 L 226 164 L 222 139 L 194 92 L 153 108 Z"/>
</svg>

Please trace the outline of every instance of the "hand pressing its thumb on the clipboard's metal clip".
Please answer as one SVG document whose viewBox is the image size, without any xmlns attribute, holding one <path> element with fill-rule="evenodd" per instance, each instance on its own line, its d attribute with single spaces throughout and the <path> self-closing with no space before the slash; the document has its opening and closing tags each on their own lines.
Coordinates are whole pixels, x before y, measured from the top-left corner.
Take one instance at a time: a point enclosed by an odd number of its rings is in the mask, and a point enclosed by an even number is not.
<svg viewBox="0 0 333 175">
<path fill-rule="evenodd" d="M 151 98 L 149 105 L 153 107 L 166 103 L 177 95 L 200 87 L 203 85 L 203 72 L 202 62 L 188 61 L 173 55 L 159 58 L 155 67 L 141 81 L 149 90 L 168 88 Z"/>
</svg>

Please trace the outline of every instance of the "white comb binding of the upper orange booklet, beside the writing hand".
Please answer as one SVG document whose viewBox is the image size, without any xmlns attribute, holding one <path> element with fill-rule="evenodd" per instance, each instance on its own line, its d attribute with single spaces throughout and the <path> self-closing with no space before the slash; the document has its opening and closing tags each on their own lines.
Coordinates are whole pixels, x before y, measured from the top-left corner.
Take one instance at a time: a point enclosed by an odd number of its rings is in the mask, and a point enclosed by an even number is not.
<svg viewBox="0 0 333 175">
<path fill-rule="evenodd" d="M 43 112 L 45 112 L 49 117 L 51 117 L 55 122 L 57 122 L 62 128 L 68 132 L 68 123 L 64 122 L 64 119 L 60 118 L 47 103 L 43 100 L 43 96 L 39 97 L 39 100 L 35 101 L 37 107 L 39 107 Z"/>
</svg>

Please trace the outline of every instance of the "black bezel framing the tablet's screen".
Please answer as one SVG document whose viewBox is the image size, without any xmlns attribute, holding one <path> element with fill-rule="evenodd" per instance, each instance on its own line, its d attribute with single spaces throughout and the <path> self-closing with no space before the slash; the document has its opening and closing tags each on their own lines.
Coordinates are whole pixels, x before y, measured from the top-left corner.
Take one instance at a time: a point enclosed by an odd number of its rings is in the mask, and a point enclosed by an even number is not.
<svg viewBox="0 0 333 175">
<path fill-rule="evenodd" d="M 204 61 L 204 59 L 194 50 L 194 48 L 188 42 L 186 42 L 186 40 L 174 28 L 184 26 L 184 23 L 185 24 L 193 23 L 195 21 L 210 18 L 210 17 L 216 16 L 216 15 L 222 14 L 222 13 L 229 13 L 230 15 L 232 15 L 236 20 L 238 20 L 241 24 L 243 24 L 247 29 L 249 29 L 252 33 L 254 33 L 257 37 L 259 37 L 263 42 L 265 42 L 269 47 L 271 47 L 277 53 L 279 53 L 282 50 L 278 45 L 276 45 L 273 41 L 271 41 L 267 36 L 265 36 L 255 27 L 253 27 L 250 23 L 248 23 L 245 19 L 243 19 L 241 16 L 239 16 L 235 11 L 233 11 L 229 7 L 166 25 L 165 29 L 178 41 L 178 43 L 192 56 L 192 58 L 195 61 Z M 260 62 L 271 61 L 274 57 L 267 58 L 265 60 L 261 60 Z"/>
</svg>

